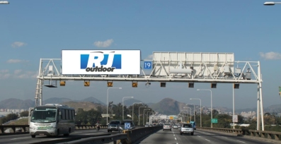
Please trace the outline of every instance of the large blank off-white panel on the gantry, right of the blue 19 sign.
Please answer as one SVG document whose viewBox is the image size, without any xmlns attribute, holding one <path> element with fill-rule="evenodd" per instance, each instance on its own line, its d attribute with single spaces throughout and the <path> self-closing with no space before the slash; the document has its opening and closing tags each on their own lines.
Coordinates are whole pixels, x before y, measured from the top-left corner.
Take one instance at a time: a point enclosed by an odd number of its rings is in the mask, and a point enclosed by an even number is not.
<svg viewBox="0 0 281 144">
<path fill-rule="evenodd" d="M 154 75 L 167 76 L 190 73 L 193 76 L 210 76 L 214 72 L 234 71 L 234 53 L 211 52 L 153 52 Z"/>
</svg>

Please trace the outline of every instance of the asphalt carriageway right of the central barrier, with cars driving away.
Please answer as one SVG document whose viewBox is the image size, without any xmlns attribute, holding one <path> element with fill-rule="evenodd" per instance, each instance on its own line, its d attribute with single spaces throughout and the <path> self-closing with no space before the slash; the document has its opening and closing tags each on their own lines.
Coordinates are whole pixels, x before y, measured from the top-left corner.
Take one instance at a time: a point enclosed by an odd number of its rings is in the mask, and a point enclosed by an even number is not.
<svg viewBox="0 0 281 144">
<path fill-rule="evenodd" d="M 139 144 L 144 143 L 161 143 L 161 144 L 185 144 L 185 143 L 194 143 L 194 144 L 200 144 L 200 143 L 228 143 L 228 144 L 268 144 L 269 142 L 263 142 L 260 140 L 252 140 L 250 138 L 243 138 L 239 136 L 232 136 L 229 134 L 223 134 L 223 133 L 214 133 L 210 131 L 200 131 L 195 130 L 194 136 L 191 136 L 190 134 L 183 134 L 180 136 L 178 129 L 172 129 L 172 131 L 157 131 L 156 133 L 148 136 L 147 138 L 140 140 L 138 142 Z M 135 143 L 137 144 L 137 143 Z"/>
</svg>

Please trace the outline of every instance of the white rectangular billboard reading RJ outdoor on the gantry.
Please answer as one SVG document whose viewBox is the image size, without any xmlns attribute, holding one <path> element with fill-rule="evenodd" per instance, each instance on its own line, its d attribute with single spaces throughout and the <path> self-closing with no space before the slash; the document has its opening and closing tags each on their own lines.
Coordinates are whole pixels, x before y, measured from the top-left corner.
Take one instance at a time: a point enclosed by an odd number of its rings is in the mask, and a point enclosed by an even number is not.
<svg viewBox="0 0 281 144">
<path fill-rule="evenodd" d="M 140 50 L 62 50 L 62 74 L 140 74 Z"/>
</svg>

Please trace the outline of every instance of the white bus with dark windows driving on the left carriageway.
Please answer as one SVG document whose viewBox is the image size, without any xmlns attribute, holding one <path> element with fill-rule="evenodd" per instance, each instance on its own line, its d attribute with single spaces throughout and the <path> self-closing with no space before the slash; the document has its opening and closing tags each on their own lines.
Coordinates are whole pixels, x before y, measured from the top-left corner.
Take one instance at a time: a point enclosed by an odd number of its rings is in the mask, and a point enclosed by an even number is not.
<svg viewBox="0 0 281 144">
<path fill-rule="evenodd" d="M 75 130 L 75 109 L 62 104 L 45 104 L 29 109 L 29 133 L 40 136 L 69 136 Z"/>
</svg>

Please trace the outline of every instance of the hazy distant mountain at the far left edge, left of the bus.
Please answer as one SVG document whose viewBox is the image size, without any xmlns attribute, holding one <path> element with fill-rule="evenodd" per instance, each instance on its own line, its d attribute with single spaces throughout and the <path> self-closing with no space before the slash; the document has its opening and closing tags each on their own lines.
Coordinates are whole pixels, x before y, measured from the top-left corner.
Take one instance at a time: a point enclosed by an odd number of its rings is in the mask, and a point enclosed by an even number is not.
<svg viewBox="0 0 281 144">
<path fill-rule="evenodd" d="M 0 102 L 0 109 L 28 109 L 29 107 L 34 106 L 35 102 L 33 100 L 10 98 Z"/>
</svg>

